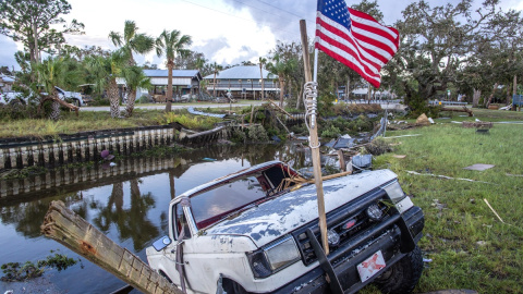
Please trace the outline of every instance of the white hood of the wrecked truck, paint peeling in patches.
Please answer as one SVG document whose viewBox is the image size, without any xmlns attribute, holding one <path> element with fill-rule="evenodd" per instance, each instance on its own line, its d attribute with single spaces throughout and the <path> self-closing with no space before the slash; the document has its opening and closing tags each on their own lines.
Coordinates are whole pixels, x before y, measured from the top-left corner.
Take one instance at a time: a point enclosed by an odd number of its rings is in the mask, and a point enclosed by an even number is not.
<svg viewBox="0 0 523 294">
<path fill-rule="evenodd" d="M 396 177 L 390 170 L 379 170 L 325 181 L 325 211 L 332 211 Z M 206 234 L 245 235 L 259 247 L 318 219 L 316 198 L 316 186 L 307 185 L 224 220 L 206 230 Z"/>
</svg>

